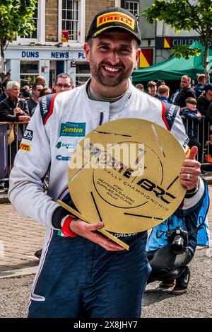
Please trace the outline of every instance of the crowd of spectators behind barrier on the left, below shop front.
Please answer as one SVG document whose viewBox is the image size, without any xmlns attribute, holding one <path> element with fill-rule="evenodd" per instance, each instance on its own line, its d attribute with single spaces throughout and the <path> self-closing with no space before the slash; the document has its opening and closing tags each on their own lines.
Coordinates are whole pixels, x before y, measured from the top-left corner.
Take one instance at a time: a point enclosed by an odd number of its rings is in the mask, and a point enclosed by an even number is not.
<svg viewBox="0 0 212 332">
<path fill-rule="evenodd" d="M 7 170 L 1 172 L 1 178 L 8 178 L 16 153 L 20 147 L 24 130 L 32 118 L 35 108 L 39 103 L 39 98 L 51 93 L 60 93 L 73 88 L 73 81 L 69 74 L 61 73 L 57 75 L 52 88 L 47 87 L 44 76 L 37 76 L 33 86 L 25 85 L 20 88 L 17 81 L 6 78 L 1 84 L 0 93 L 0 122 L 10 122 L 11 125 L 0 126 L 1 134 L 5 131 L 8 135 L 8 151 L 4 150 L 2 160 L 7 156 Z M 13 122 L 18 125 L 13 126 Z M 23 123 L 23 125 L 22 125 Z M 8 180 L 1 181 L 1 188 L 8 190 Z"/>
</svg>

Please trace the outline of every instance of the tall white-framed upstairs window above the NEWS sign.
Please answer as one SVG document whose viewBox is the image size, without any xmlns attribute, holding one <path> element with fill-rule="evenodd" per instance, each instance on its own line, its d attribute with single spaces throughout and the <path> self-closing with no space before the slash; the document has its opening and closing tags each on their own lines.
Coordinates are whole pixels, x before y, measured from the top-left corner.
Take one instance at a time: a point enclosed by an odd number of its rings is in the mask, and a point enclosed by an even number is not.
<svg viewBox="0 0 212 332">
<path fill-rule="evenodd" d="M 69 40 L 78 41 L 79 1 L 62 0 L 62 30 L 68 31 Z"/>
</svg>

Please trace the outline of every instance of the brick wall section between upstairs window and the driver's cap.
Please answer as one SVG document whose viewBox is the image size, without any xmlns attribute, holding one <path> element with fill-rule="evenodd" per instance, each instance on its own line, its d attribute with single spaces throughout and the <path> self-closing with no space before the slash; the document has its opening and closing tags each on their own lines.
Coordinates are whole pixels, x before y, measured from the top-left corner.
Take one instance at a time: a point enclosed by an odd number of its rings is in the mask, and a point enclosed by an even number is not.
<svg viewBox="0 0 212 332">
<path fill-rule="evenodd" d="M 114 7 L 114 0 L 86 0 L 86 35 L 95 14 L 104 8 Z"/>
</svg>

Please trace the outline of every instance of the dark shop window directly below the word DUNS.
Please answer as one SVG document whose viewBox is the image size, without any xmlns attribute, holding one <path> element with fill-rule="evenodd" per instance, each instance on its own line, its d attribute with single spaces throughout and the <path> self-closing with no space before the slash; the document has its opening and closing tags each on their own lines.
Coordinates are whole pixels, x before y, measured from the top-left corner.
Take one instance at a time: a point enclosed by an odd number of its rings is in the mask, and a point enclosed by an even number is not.
<svg viewBox="0 0 212 332">
<path fill-rule="evenodd" d="M 35 78 L 40 74 L 40 61 L 20 60 L 20 82 L 21 85 L 25 85 L 24 82 L 33 84 Z M 26 82 L 25 82 L 26 83 Z"/>
</svg>

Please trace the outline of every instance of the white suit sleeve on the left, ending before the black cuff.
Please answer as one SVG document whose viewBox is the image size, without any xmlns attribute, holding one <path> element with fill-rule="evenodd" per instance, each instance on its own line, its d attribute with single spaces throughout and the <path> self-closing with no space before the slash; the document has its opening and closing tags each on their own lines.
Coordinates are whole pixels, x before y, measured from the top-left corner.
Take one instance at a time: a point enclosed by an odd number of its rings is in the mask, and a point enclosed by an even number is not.
<svg viewBox="0 0 212 332">
<path fill-rule="evenodd" d="M 19 214 L 52 227 L 52 213 L 58 205 L 45 193 L 42 182 L 51 156 L 49 137 L 39 111 L 27 129 L 31 135 L 22 141 L 26 149 L 20 149 L 16 155 L 8 197 Z"/>
</svg>

